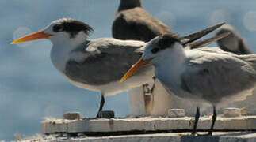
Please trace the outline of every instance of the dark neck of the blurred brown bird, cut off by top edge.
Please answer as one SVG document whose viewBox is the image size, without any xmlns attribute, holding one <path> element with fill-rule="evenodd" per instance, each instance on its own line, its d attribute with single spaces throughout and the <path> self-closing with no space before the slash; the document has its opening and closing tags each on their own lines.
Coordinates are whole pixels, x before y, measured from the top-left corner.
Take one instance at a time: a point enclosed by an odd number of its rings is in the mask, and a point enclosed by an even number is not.
<svg viewBox="0 0 256 142">
<path fill-rule="evenodd" d="M 141 7 L 141 0 L 120 0 L 118 11 Z"/>
</svg>

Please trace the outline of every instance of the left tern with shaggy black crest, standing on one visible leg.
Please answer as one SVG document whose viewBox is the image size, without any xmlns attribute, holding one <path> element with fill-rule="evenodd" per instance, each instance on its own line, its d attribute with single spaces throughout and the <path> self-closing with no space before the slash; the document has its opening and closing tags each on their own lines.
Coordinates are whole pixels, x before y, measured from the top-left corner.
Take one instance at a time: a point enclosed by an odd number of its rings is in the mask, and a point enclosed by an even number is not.
<svg viewBox="0 0 256 142">
<path fill-rule="evenodd" d="M 185 36 L 188 37 L 185 39 L 198 39 L 220 25 Z M 99 117 L 105 96 L 124 92 L 151 80 L 154 69 L 152 65 L 148 65 L 125 83 L 120 83 L 120 77 L 141 57 L 143 47 L 147 43 L 113 38 L 90 40 L 88 35 L 92 31 L 93 29 L 82 21 L 63 18 L 53 21 L 43 31 L 21 37 L 12 44 L 49 39 L 53 44 L 51 59 L 55 68 L 78 88 L 101 92 L 101 104 L 97 112 Z M 216 39 L 218 37 L 220 36 Z"/>
</svg>

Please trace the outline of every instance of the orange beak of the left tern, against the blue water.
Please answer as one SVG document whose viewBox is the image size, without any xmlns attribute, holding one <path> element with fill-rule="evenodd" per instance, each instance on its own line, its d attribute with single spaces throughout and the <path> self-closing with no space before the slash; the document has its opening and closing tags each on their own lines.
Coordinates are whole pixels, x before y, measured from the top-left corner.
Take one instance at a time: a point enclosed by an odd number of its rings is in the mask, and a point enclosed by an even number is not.
<svg viewBox="0 0 256 142">
<path fill-rule="evenodd" d="M 52 36 L 52 35 L 44 33 L 44 31 L 34 32 L 27 36 L 23 36 L 20 39 L 14 40 L 11 44 L 23 43 L 31 40 L 36 40 L 36 39 L 48 39 L 49 36 Z"/>
</svg>

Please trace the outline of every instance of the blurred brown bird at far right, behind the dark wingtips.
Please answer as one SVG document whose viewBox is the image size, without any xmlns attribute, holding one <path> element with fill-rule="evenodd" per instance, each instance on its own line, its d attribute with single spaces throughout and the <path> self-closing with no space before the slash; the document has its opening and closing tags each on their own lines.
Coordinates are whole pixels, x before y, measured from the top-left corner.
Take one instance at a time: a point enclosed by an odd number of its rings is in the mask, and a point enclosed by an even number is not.
<svg viewBox="0 0 256 142">
<path fill-rule="evenodd" d="M 231 24 L 224 24 L 218 31 L 216 35 L 220 35 L 224 32 L 230 32 L 231 34 L 223 39 L 217 41 L 217 44 L 222 50 L 232 52 L 234 54 L 253 54 L 250 47 L 245 43 L 245 40 Z"/>
</svg>

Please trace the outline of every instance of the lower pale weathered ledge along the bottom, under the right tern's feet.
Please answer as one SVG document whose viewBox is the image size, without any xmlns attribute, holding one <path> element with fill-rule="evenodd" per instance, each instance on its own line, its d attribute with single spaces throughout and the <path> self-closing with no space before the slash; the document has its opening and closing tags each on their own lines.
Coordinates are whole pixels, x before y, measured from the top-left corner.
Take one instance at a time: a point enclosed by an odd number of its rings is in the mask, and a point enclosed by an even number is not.
<svg viewBox="0 0 256 142">
<path fill-rule="evenodd" d="M 123 135 L 123 136 L 39 136 L 33 139 L 20 140 L 29 141 L 48 141 L 48 142 L 141 142 L 141 141 L 161 141 L 161 142 L 253 142 L 256 141 L 256 133 L 250 132 L 215 132 L 213 136 L 190 136 L 189 133 L 157 133 L 143 135 Z"/>
</svg>

